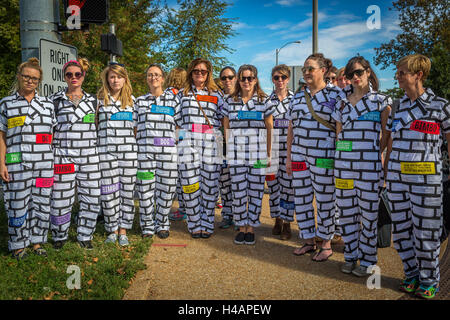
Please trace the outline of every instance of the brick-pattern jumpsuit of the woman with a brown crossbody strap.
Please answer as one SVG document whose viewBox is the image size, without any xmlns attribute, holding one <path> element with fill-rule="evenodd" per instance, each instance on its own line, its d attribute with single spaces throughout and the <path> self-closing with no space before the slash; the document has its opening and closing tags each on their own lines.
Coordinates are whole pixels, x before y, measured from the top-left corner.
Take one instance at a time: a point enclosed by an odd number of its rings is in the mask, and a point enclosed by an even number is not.
<svg viewBox="0 0 450 320">
<path fill-rule="evenodd" d="M 309 89 L 308 94 L 309 94 Z M 324 88 L 311 97 L 314 111 L 335 125 L 331 117 L 339 99 L 336 87 Z M 316 121 L 306 104 L 304 91 L 291 101 L 293 142 L 291 150 L 292 181 L 295 193 L 296 218 L 300 237 L 318 236 L 331 240 L 335 233 L 334 152 L 336 132 Z M 313 198 L 316 196 L 317 225 Z"/>
</svg>

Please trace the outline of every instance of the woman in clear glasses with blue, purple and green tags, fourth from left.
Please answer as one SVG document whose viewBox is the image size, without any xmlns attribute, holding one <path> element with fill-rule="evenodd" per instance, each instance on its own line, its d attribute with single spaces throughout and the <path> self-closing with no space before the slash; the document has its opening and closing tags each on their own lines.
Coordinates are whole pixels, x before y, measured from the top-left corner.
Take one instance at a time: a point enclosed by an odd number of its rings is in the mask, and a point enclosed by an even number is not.
<svg viewBox="0 0 450 320">
<path fill-rule="evenodd" d="M 175 119 L 178 103 L 173 88 L 164 90 L 166 74 L 158 64 L 147 68 L 149 93 L 136 99 L 139 214 L 144 238 L 169 237 L 169 213 L 177 187 Z"/>
</svg>

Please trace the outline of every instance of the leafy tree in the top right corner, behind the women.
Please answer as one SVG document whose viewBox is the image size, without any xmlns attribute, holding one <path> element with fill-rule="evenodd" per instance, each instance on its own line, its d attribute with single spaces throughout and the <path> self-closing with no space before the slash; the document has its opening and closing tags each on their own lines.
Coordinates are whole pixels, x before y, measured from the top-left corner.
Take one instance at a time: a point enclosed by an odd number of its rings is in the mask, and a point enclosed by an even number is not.
<svg viewBox="0 0 450 320">
<path fill-rule="evenodd" d="M 375 48 L 375 64 L 387 69 L 395 66 L 396 62 L 406 55 L 426 55 L 432 61 L 432 70 L 426 85 L 437 95 L 449 99 L 448 80 L 444 79 L 450 68 L 448 0 L 398 0 L 393 2 L 393 6 L 399 11 L 402 33 Z"/>
</svg>

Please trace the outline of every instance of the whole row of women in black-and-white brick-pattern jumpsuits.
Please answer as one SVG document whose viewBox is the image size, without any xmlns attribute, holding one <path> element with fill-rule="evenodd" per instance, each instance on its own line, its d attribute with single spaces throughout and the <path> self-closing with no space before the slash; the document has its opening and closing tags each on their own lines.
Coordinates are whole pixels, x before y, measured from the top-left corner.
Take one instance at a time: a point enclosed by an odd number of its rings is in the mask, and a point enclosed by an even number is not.
<svg viewBox="0 0 450 320">
<path fill-rule="evenodd" d="M 0 101 L 0 174 L 15 258 L 26 257 L 29 245 L 45 256 L 41 244 L 49 229 L 54 247 L 64 246 L 75 190 L 77 240 L 87 249 L 100 211 L 106 242 L 128 245 L 134 190 L 143 237 L 167 238 L 177 188 L 193 238 L 213 234 L 220 190 L 220 227 L 234 224 L 234 243 L 252 245 L 267 182 L 273 233 L 288 239 L 295 215 L 305 240 L 295 255 L 326 261 L 339 228 L 341 271 L 366 276 L 377 263 L 379 192 L 386 181 L 405 272 L 400 289 L 424 298 L 439 290 L 440 147 L 450 140 L 450 106 L 423 87 L 427 57 L 398 62 L 396 78 L 406 95 L 395 113 L 361 56 L 343 72 L 322 54 L 309 56 L 305 86 L 295 94 L 287 89 L 289 68 L 276 66 L 270 96 L 253 65 L 222 69 L 219 88 L 211 63 L 199 58 L 176 87 L 161 66 L 150 65 L 149 92 L 138 98 L 126 68 L 112 63 L 95 97 L 82 89 L 88 66 L 85 59 L 66 63 L 68 88 L 44 98 L 36 92 L 42 70 L 32 58 L 19 66 L 12 95 Z M 331 79 L 347 85 L 341 89 Z"/>
</svg>

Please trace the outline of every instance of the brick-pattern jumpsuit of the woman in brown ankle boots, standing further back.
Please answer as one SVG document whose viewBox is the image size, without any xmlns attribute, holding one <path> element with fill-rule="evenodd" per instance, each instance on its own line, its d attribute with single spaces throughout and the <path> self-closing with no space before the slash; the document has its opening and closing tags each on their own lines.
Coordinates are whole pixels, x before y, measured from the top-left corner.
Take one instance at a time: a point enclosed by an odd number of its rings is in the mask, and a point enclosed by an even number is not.
<svg viewBox="0 0 450 320">
<path fill-rule="evenodd" d="M 288 96 L 280 101 L 276 93 L 273 92 L 266 102 L 275 108 L 271 160 L 271 167 L 275 168 L 275 172 L 266 176 L 270 193 L 270 216 L 281 218 L 286 222 L 294 221 L 295 213 L 292 176 L 289 176 L 286 172 L 287 133 L 289 128 L 289 120 L 286 119 L 286 115 L 293 96 L 294 94 L 289 91 Z"/>
</svg>

